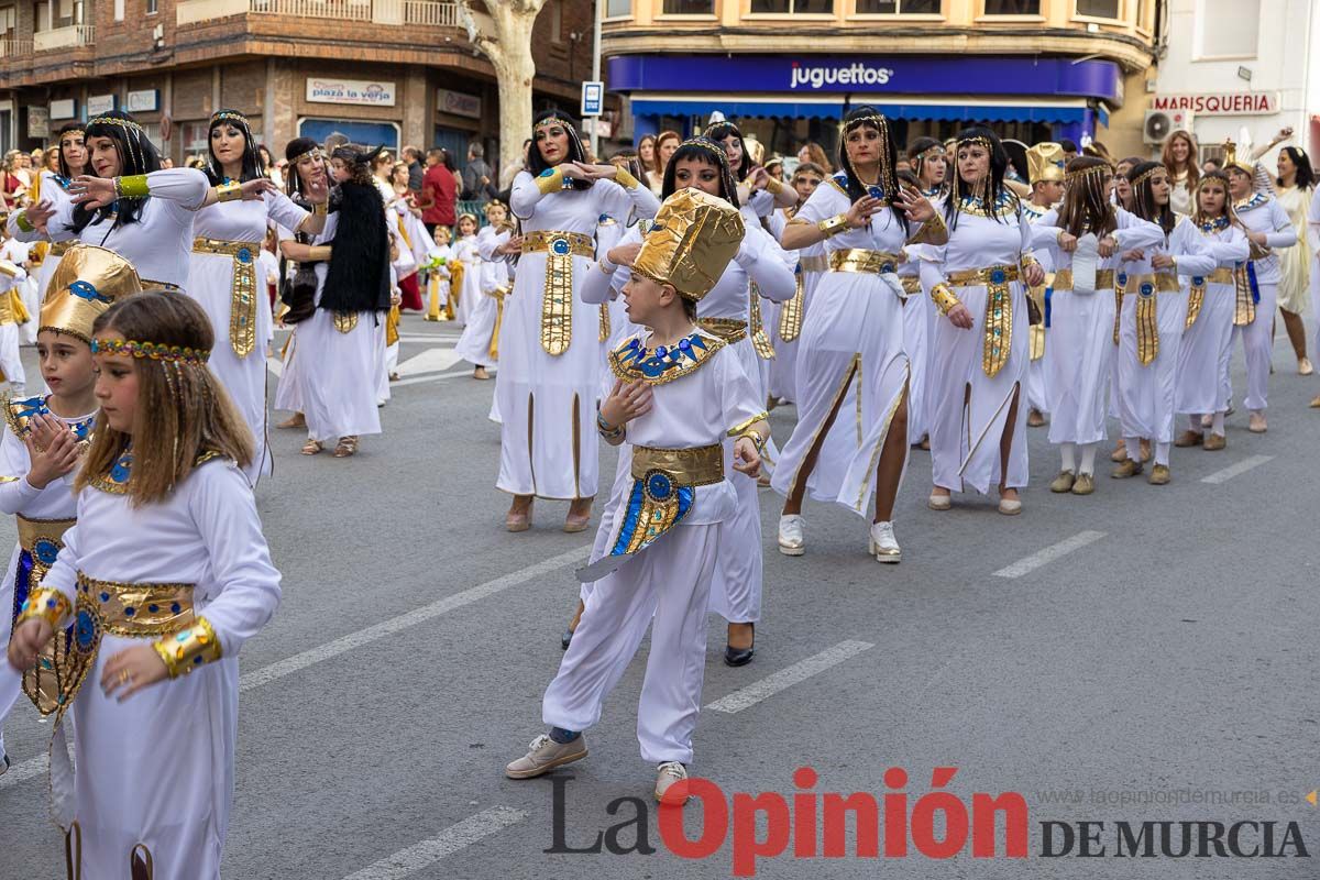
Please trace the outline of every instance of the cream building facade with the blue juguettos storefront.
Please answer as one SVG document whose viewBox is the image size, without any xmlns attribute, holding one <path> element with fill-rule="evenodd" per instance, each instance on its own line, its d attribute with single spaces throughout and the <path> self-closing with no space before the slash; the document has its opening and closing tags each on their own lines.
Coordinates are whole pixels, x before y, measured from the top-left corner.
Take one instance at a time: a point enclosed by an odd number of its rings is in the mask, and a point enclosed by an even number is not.
<svg viewBox="0 0 1320 880">
<path fill-rule="evenodd" d="M 899 142 L 970 123 L 1140 146 L 1159 0 L 605 0 L 609 87 L 635 137 L 719 111 L 772 149 L 871 104 Z M 751 120 L 756 120 L 752 123 Z"/>
</svg>

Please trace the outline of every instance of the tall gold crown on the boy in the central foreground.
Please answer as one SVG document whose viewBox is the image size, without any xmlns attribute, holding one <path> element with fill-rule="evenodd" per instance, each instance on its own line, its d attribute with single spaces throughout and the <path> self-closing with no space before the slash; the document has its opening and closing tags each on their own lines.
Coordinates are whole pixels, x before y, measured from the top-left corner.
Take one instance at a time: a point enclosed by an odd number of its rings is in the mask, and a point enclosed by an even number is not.
<svg viewBox="0 0 1320 880">
<path fill-rule="evenodd" d="M 742 215 L 701 190 L 678 190 L 664 201 L 632 263 L 632 270 L 701 302 L 738 253 Z"/>
</svg>

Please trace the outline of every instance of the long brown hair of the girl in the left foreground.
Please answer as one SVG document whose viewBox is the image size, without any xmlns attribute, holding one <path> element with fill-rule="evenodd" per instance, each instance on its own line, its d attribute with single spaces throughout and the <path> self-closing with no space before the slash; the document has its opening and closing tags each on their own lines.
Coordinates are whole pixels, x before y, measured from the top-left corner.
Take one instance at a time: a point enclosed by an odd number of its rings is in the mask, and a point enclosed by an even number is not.
<svg viewBox="0 0 1320 880">
<path fill-rule="evenodd" d="M 166 290 L 148 290 L 112 305 L 92 325 L 92 335 L 110 331 L 125 340 L 194 351 L 210 351 L 215 343 L 202 307 L 183 293 Z M 232 459 L 240 467 L 252 462 L 252 433 L 205 363 L 136 356 L 132 360 L 137 376 L 133 431 L 112 429 L 104 413 L 96 417 L 75 491 L 110 474 L 129 442 L 133 466 L 128 493 L 133 507 L 168 499 L 205 453 Z"/>
</svg>

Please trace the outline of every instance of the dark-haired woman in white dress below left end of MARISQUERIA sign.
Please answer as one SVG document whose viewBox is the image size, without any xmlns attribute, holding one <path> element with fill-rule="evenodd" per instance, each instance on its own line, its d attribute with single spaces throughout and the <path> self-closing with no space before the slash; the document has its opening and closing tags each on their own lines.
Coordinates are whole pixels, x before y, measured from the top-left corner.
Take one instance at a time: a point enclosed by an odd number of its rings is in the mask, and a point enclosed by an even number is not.
<svg viewBox="0 0 1320 880">
<path fill-rule="evenodd" d="M 1127 273 L 1118 338 L 1118 416 L 1125 459 L 1110 476 L 1142 472 L 1140 441 L 1154 445 L 1150 483 L 1170 482 L 1177 392 L 1177 352 L 1187 326 L 1187 282 L 1214 270 L 1214 255 L 1196 226 L 1170 208 L 1168 169 L 1140 162 L 1129 172 L 1137 215 L 1159 223 L 1160 244 L 1123 253 Z M 1181 276 L 1181 278 L 1180 278 Z"/>
</svg>

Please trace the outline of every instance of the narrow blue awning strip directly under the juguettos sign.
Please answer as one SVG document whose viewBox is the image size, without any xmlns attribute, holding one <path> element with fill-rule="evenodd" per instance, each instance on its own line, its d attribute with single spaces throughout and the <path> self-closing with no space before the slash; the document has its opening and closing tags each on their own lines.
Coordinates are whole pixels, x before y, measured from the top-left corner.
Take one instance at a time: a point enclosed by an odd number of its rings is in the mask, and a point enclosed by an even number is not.
<svg viewBox="0 0 1320 880">
<path fill-rule="evenodd" d="M 895 95 L 883 102 L 853 99 L 853 104 L 870 104 L 894 119 L 994 121 L 994 123 L 1084 123 L 1088 112 L 1098 115 L 1102 125 L 1109 124 L 1109 113 L 1102 108 L 1089 111 L 1085 99 L 1065 100 L 1003 100 L 975 99 L 970 102 L 940 102 L 921 96 Z M 714 111 L 729 117 L 775 116 L 792 119 L 840 119 L 843 96 L 813 95 L 803 99 L 793 95 L 632 95 L 635 116 L 709 116 Z"/>
</svg>

